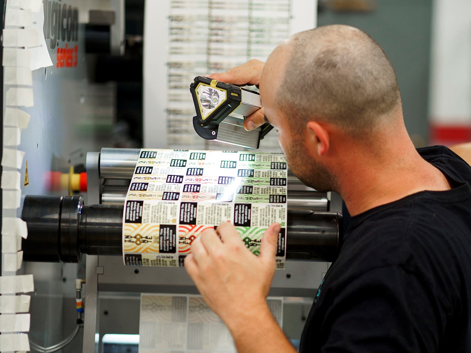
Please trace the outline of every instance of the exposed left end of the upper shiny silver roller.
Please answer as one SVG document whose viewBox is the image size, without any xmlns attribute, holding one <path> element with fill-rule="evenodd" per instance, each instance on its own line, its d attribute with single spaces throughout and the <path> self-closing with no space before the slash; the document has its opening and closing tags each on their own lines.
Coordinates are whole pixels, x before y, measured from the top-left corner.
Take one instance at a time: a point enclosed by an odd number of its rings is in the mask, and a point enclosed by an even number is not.
<svg viewBox="0 0 471 353">
<path fill-rule="evenodd" d="M 131 179 L 139 152 L 139 148 L 102 148 L 100 178 Z"/>
</svg>

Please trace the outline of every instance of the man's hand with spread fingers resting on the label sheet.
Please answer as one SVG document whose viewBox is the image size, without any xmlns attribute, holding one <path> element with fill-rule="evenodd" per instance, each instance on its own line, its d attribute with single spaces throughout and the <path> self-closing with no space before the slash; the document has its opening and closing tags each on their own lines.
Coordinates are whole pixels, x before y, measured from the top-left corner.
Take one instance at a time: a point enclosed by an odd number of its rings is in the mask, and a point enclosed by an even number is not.
<svg viewBox="0 0 471 353">
<path fill-rule="evenodd" d="M 278 223 L 265 231 L 258 257 L 245 247 L 229 222 L 221 223 L 216 231 L 204 231 L 191 244 L 185 268 L 206 303 L 231 331 L 247 315 L 267 307 L 279 232 Z"/>
</svg>

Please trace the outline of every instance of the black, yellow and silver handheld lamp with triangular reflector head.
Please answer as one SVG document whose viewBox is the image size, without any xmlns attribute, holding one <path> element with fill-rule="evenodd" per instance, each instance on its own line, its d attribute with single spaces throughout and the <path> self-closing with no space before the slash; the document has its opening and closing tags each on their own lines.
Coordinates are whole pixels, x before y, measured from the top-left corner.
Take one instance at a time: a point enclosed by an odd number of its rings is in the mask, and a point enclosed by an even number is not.
<svg viewBox="0 0 471 353">
<path fill-rule="evenodd" d="M 196 109 L 193 127 L 203 139 L 255 149 L 273 129 L 269 123 L 244 129 L 245 118 L 262 107 L 257 92 L 203 76 L 195 77 L 190 91 Z"/>
</svg>

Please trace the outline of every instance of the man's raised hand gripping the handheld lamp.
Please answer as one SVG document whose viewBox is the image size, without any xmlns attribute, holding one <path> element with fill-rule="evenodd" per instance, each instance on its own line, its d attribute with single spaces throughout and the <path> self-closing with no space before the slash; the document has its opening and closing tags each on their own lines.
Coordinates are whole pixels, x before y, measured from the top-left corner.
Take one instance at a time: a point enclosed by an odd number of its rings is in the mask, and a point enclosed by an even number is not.
<svg viewBox="0 0 471 353">
<path fill-rule="evenodd" d="M 205 75 L 205 77 L 236 85 L 259 84 L 264 65 L 265 63 L 263 61 L 252 59 L 247 61 L 245 64 L 241 66 L 235 66 L 226 72 Z M 264 123 L 265 113 L 263 108 L 260 108 L 255 113 L 248 116 L 247 119 L 245 119 L 244 129 L 250 131 L 263 125 Z"/>
</svg>

